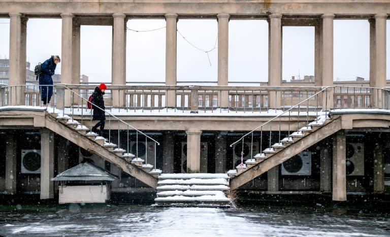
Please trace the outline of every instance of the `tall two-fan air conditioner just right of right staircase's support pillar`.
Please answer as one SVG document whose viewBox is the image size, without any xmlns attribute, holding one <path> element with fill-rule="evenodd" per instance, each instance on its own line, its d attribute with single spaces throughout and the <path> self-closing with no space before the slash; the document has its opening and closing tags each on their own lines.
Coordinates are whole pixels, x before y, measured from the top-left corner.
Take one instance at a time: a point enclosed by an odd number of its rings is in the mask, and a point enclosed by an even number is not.
<svg viewBox="0 0 390 237">
<path fill-rule="evenodd" d="M 364 144 L 347 143 L 345 149 L 347 176 L 364 176 Z"/>
</svg>

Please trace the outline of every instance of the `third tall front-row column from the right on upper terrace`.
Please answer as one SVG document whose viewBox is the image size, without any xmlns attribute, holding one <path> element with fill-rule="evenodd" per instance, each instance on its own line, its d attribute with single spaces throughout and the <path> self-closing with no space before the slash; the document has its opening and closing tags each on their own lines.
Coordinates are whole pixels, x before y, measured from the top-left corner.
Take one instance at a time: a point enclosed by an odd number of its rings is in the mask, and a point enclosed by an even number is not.
<svg viewBox="0 0 390 237">
<path fill-rule="evenodd" d="M 269 86 L 281 86 L 282 84 L 282 15 L 272 13 L 270 15 L 269 27 Z M 268 97 L 268 105 L 272 109 L 279 109 L 281 106 L 280 92 L 271 91 Z"/>
</svg>

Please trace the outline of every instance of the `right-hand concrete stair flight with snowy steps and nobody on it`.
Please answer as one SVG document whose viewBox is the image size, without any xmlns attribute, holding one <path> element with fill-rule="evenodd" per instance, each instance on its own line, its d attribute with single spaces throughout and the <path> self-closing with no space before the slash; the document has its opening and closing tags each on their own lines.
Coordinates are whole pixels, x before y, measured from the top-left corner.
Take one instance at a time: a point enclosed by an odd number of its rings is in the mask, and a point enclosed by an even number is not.
<svg viewBox="0 0 390 237">
<path fill-rule="evenodd" d="M 236 170 L 230 170 L 230 188 L 239 188 L 340 129 L 340 117 L 330 119 L 328 115 L 319 116 L 307 126 L 290 133 L 289 137 L 282 139 L 280 143 L 275 143 L 262 153 L 256 154 L 253 159 L 239 164 Z"/>
</svg>

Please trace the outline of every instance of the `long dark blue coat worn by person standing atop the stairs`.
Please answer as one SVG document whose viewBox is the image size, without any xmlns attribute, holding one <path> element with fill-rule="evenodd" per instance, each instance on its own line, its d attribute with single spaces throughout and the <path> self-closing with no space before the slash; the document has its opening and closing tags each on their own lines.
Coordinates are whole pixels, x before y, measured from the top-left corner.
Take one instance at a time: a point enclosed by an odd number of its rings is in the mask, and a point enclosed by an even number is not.
<svg viewBox="0 0 390 237">
<path fill-rule="evenodd" d="M 55 67 L 57 66 L 54 63 L 54 56 L 51 56 L 49 59 L 42 63 L 42 74 L 39 75 L 39 85 L 53 85 L 53 79 L 51 76 L 54 75 Z M 51 97 L 53 95 L 52 86 L 41 86 L 41 99 L 46 97 Z"/>
</svg>

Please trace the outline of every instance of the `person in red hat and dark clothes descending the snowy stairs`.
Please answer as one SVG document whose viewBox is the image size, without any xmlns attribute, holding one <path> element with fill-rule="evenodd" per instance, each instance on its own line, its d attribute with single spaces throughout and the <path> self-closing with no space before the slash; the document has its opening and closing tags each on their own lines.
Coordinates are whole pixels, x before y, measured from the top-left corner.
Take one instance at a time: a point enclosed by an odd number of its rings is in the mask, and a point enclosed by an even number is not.
<svg viewBox="0 0 390 237">
<path fill-rule="evenodd" d="M 91 131 L 98 133 L 100 136 L 103 136 L 104 125 L 106 124 L 106 112 L 104 111 L 106 107 L 104 106 L 104 91 L 107 89 L 106 84 L 102 83 L 99 87 L 96 86 L 95 91 L 92 96 L 92 109 L 93 109 L 93 120 L 100 120 L 96 123 Z M 100 126 L 100 130 L 98 127 Z"/>
</svg>

